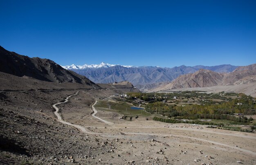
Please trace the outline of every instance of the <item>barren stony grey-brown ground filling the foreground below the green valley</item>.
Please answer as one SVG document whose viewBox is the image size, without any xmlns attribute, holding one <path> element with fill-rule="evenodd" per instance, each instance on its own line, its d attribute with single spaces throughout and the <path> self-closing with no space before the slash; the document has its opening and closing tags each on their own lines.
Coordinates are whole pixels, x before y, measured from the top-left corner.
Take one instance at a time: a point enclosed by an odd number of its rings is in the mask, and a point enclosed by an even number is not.
<svg viewBox="0 0 256 165">
<path fill-rule="evenodd" d="M 94 100 L 115 90 L 0 93 L 0 164 L 256 164 L 256 135 L 166 124 L 102 111 L 92 116 Z M 111 100 L 111 98 L 109 98 Z M 200 129 L 199 129 L 200 128 Z M 201 129 L 202 128 L 202 129 Z"/>
</svg>

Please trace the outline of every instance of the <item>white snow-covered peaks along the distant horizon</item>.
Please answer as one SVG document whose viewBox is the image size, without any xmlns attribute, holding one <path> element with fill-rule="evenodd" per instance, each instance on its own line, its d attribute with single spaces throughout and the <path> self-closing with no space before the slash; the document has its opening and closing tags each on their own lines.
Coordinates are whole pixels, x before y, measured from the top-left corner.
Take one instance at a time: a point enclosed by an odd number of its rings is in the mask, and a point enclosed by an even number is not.
<svg viewBox="0 0 256 165">
<path fill-rule="evenodd" d="M 61 66 L 64 69 L 87 69 L 87 68 L 109 68 L 109 67 L 115 67 L 117 65 L 112 65 L 112 64 L 107 64 L 105 62 L 101 62 L 99 65 L 97 64 L 92 64 L 92 65 L 66 65 L 66 66 Z M 126 66 L 126 65 L 119 65 L 122 67 L 126 67 L 126 68 L 130 68 L 130 67 L 134 67 L 134 66 Z"/>
</svg>

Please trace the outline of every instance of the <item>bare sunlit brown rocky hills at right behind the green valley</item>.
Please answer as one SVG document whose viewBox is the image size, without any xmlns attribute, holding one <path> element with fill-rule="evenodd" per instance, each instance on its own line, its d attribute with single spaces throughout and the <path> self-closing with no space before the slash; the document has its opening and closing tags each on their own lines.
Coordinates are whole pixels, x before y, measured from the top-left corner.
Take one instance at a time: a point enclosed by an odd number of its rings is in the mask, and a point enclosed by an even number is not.
<svg viewBox="0 0 256 165">
<path fill-rule="evenodd" d="M 248 84 L 256 82 L 256 64 L 245 67 L 238 67 L 231 73 L 217 73 L 210 70 L 200 69 L 193 74 L 179 76 L 171 83 L 160 85 L 154 91 L 195 88 L 195 87 L 212 87 Z"/>
</svg>

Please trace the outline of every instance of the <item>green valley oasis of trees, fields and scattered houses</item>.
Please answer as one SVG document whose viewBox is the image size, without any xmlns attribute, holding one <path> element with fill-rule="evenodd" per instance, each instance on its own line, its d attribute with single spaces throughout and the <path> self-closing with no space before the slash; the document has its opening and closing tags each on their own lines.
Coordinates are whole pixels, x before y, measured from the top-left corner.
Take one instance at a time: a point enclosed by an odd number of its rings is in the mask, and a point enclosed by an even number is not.
<svg viewBox="0 0 256 165">
<path fill-rule="evenodd" d="M 179 91 L 173 93 L 127 94 L 126 101 L 142 100 L 145 111 L 154 116 L 153 120 L 165 123 L 187 123 L 211 125 L 210 128 L 253 132 L 256 101 L 245 94 L 215 93 L 204 91 Z M 246 126 L 246 127 L 245 127 Z"/>
</svg>

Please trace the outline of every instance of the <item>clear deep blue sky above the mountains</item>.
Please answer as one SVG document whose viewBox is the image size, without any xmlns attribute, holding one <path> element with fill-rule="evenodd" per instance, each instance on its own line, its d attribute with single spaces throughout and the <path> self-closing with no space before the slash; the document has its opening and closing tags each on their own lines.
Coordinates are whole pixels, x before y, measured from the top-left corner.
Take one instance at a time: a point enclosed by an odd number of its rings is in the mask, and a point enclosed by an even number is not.
<svg viewBox="0 0 256 165">
<path fill-rule="evenodd" d="M 256 0 L 0 0 L 0 45 L 60 65 L 256 63 Z"/>
</svg>

